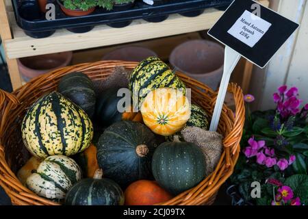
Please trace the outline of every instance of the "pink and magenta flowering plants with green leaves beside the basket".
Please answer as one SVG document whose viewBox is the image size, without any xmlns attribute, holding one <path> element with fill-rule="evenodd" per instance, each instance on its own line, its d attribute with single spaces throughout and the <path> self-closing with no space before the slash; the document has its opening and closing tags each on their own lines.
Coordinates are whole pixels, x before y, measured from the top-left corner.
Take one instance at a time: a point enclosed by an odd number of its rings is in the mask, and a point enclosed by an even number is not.
<svg viewBox="0 0 308 219">
<path fill-rule="evenodd" d="M 307 205 L 308 104 L 300 107 L 296 87 L 281 86 L 273 99 L 275 110 L 247 114 L 242 153 L 230 181 L 244 203 Z M 255 188 L 259 196 L 252 195 Z"/>
</svg>

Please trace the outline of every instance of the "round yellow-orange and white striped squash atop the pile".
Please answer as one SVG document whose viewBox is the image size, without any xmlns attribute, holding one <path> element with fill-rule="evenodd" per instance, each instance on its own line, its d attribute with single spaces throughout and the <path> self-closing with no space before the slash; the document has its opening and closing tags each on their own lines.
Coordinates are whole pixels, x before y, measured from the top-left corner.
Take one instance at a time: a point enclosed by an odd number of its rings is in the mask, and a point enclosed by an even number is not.
<svg viewBox="0 0 308 219">
<path fill-rule="evenodd" d="M 141 114 L 144 124 L 154 133 L 170 136 L 190 118 L 190 103 L 179 90 L 157 88 L 144 99 Z"/>
</svg>

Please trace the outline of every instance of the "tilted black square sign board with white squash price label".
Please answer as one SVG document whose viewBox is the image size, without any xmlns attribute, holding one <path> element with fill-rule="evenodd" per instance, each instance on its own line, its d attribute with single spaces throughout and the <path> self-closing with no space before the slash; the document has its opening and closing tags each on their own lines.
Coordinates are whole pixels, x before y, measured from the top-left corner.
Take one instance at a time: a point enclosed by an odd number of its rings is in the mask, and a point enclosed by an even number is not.
<svg viewBox="0 0 308 219">
<path fill-rule="evenodd" d="M 235 0 L 208 34 L 264 68 L 298 26 L 256 1 Z"/>
</svg>

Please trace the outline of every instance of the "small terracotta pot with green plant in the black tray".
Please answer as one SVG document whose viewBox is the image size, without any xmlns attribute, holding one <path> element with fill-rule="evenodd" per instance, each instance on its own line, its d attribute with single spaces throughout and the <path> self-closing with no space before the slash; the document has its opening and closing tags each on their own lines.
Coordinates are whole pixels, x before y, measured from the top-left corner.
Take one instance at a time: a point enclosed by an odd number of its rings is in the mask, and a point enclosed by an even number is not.
<svg viewBox="0 0 308 219">
<path fill-rule="evenodd" d="M 97 6 L 96 0 L 57 0 L 57 3 L 67 16 L 86 16 Z"/>
</svg>

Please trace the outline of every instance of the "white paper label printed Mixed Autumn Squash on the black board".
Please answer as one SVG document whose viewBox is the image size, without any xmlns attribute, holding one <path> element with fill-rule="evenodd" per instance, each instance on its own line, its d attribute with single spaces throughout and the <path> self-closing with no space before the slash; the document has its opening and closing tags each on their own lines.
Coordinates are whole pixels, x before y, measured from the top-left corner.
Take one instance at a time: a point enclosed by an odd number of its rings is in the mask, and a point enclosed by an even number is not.
<svg viewBox="0 0 308 219">
<path fill-rule="evenodd" d="M 253 47 L 264 36 L 271 25 L 271 23 L 259 18 L 259 16 L 255 16 L 255 14 L 245 10 L 242 16 L 228 30 L 228 33 L 249 47 Z"/>
</svg>

